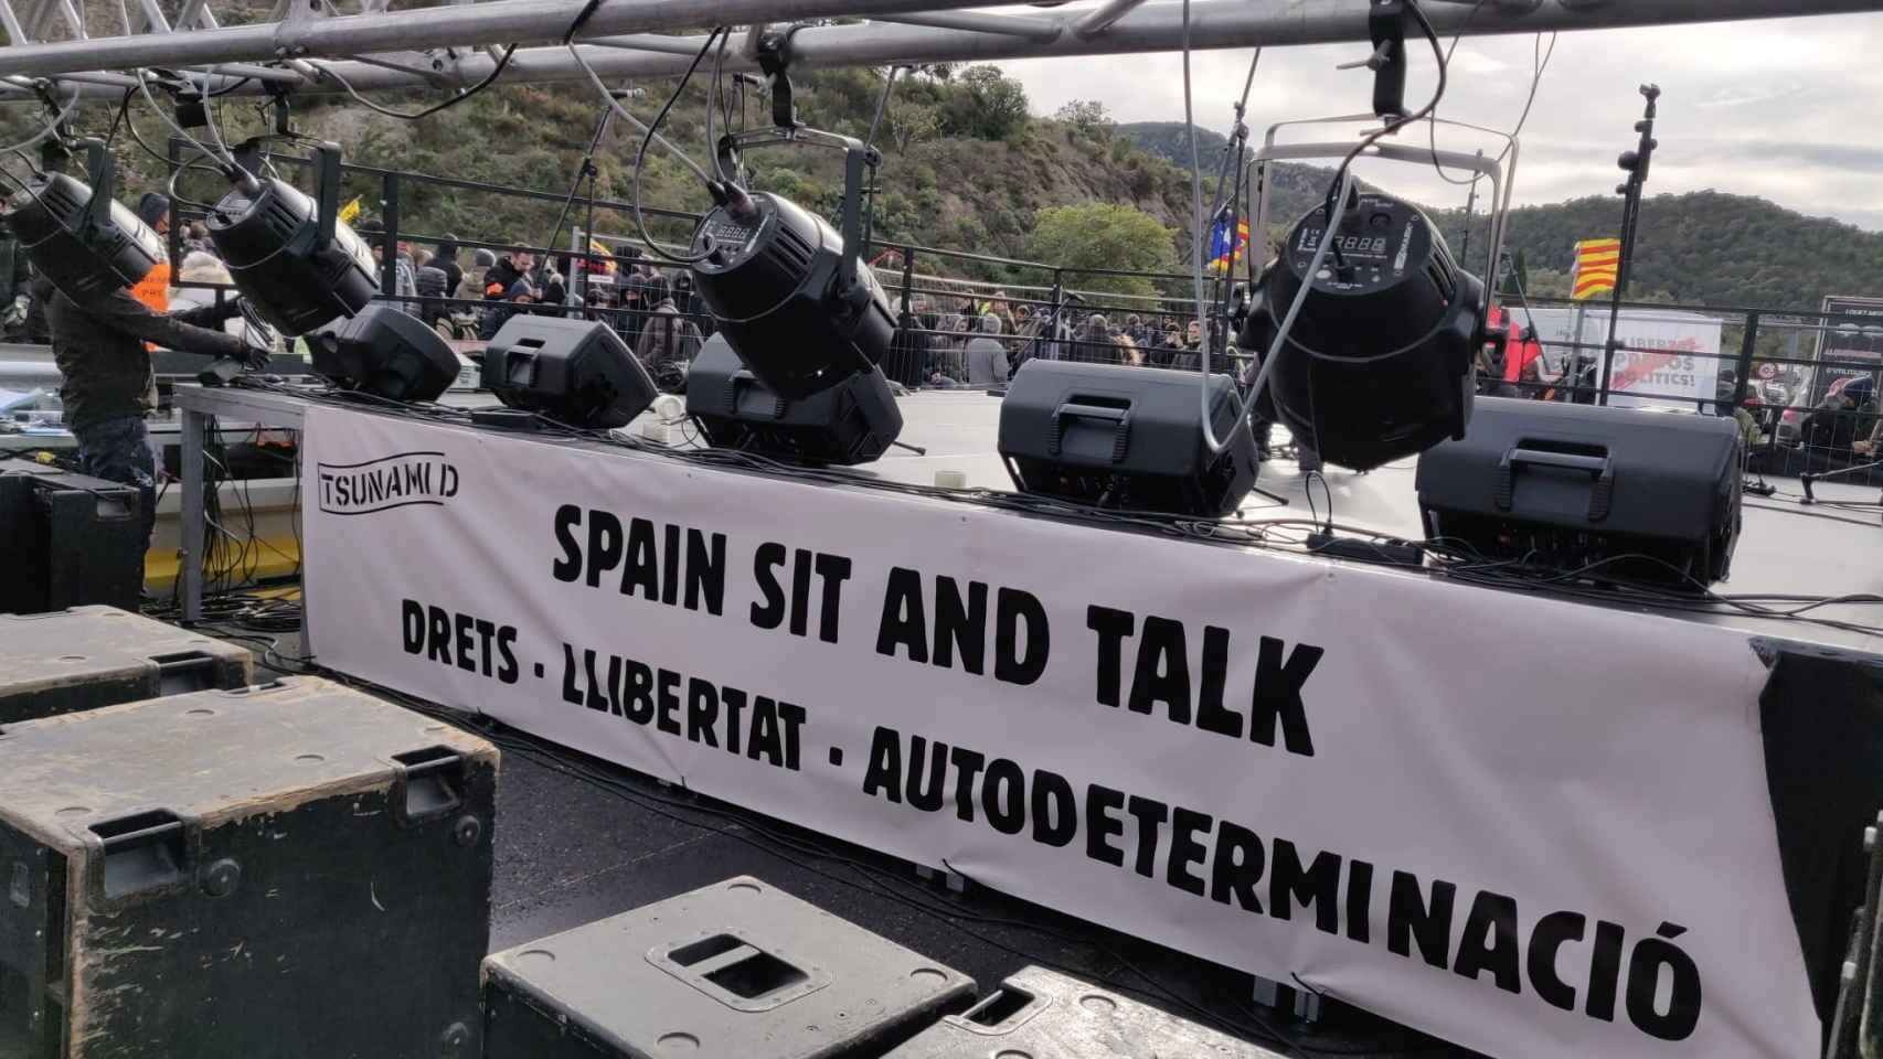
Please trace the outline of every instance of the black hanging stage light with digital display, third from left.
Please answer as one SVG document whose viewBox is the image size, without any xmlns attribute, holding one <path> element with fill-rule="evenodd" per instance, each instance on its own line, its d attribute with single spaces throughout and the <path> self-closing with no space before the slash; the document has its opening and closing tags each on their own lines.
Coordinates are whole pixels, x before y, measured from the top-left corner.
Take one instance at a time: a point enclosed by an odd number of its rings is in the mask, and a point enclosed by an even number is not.
<svg viewBox="0 0 1883 1059">
<path fill-rule="evenodd" d="M 738 192 L 693 235 L 693 290 L 751 374 L 797 401 L 872 371 L 891 348 L 896 312 L 876 273 L 859 260 L 859 199 L 870 149 L 817 130 L 793 130 L 783 139 L 755 130 L 721 141 L 721 158 L 740 143 L 785 139 L 845 152 L 842 235 L 789 199 Z M 727 171 L 736 171 L 736 162 Z"/>
</svg>

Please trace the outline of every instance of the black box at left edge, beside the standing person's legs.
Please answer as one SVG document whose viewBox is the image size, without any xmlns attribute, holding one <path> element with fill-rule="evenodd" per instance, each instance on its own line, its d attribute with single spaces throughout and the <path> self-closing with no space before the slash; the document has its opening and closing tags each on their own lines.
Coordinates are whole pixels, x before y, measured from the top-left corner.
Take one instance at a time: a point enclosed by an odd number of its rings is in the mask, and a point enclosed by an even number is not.
<svg viewBox="0 0 1883 1059">
<path fill-rule="evenodd" d="M 143 521 L 136 485 L 0 461 L 0 613 L 83 604 L 137 609 Z"/>
</svg>

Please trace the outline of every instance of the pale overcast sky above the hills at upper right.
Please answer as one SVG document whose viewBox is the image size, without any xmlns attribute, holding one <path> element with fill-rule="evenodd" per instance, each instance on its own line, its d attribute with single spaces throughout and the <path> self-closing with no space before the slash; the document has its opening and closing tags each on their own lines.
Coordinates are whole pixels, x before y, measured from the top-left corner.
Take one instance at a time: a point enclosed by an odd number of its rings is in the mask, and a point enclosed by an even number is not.
<svg viewBox="0 0 1883 1059">
<path fill-rule="evenodd" d="M 1450 41 L 1448 41 L 1450 43 Z M 1335 71 L 1365 45 L 1290 47 L 1262 56 L 1248 126 L 1356 113 L 1365 71 Z M 1228 130 L 1248 51 L 1196 53 L 1196 120 Z M 1467 38 L 1442 117 L 1508 130 L 1531 81 L 1533 38 Z M 1102 100 L 1120 122 L 1183 120 L 1177 55 L 1002 64 L 1036 113 Z M 1431 53 L 1414 60 L 1408 105 L 1431 94 Z M 1883 13 L 1651 30 L 1561 34 L 1521 134 L 1516 199 L 1552 203 L 1612 194 L 1616 154 L 1634 145 L 1636 87 L 1663 88 L 1650 194 L 1715 188 L 1883 231 Z M 1469 137 L 1440 147 L 1476 150 Z M 1463 205 L 1429 169 L 1373 162 L 1369 179 L 1429 205 Z"/>
</svg>

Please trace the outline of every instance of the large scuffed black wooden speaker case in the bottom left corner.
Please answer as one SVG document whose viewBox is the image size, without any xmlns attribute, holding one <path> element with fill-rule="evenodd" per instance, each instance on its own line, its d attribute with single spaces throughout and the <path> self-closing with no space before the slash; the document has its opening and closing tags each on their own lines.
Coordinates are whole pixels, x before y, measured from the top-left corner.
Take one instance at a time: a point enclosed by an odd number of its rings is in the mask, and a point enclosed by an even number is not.
<svg viewBox="0 0 1883 1059">
<path fill-rule="evenodd" d="M 495 747 L 316 677 L 8 724 L 0 1055 L 482 1055 L 495 798 Z"/>
</svg>

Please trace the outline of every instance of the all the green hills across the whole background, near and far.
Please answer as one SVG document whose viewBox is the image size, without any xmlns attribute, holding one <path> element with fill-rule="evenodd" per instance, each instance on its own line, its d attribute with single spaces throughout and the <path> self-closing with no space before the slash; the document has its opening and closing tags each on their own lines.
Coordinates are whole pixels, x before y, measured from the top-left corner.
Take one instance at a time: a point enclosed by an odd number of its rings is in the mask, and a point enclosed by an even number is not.
<svg viewBox="0 0 1883 1059">
<path fill-rule="evenodd" d="M 631 107 L 652 115 L 672 83 L 648 81 L 636 88 L 642 94 L 631 100 Z M 881 75 L 874 70 L 798 75 L 800 119 L 857 137 L 866 135 L 879 94 Z M 437 96 L 405 92 L 378 102 L 416 107 L 437 102 Z M 746 109 L 751 122 L 763 120 L 763 100 L 749 100 Z M 75 128 L 102 135 L 111 128 L 115 111 L 109 103 L 87 105 Z M 561 196 L 569 192 L 599 113 L 597 98 L 582 85 L 501 85 L 420 122 L 369 113 L 343 96 L 309 96 L 296 102 L 296 126 L 341 143 L 348 162 L 548 192 L 555 199 L 482 196 L 414 181 L 401 190 L 403 231 L 540 243 L 550 233 Z M 143 139 L 162 150 L 169 128 L 141 100 L 130 115 Z M 0 134 L 28 130 L 32 120 L 26 107 L 6 107 Z M 260 132 L 264 120 L 252 100 L 218 105 L 218 124 L 228 139 Z M 723 126 L 723 120 L 716 124 Z M 663 134 L 706 162 L 704 77 L 682 96 Z M 621 122 L 610 128 L 597 158 L 603 198 L 633 198 L 638 139 Z M 1220 134 L 1201 132 L 1198 150 L 1207 175 L 1215 175 L 1222 145 Z M 162 186 L 162 164 L 126 135 L 119 135 L 115 147 L 124 173 L 121 198 L 134 201 L 143 190 Z M 1030 117 L 1024 90 L 996 68 L 928 68 L 896 83 L 877 147 L 885 156 L 876 211 L 879 241 L 1028 258 L 1041 209 L 1086 201 L 1132 205 L 1164 224 L 1171 231 L 1171 246 L 1158 267 L 1175 267 L 1188 241 L 1190 181 L 1186 169 L 1171 162 L 1173 156 L 1188 158 L 1181 122 L 1115 126 L 1096 103 L 1068 107 L 1053 119 Z M 753 152 L 748 162 L 761 188 L 825 213 L 836 211 L 842 194 L 836 152 L 783 147 Z M 1279 167 L 1275 224 L 1284 226 L 1311 209 L 1328 179 L 1326 169 Z M 220 190 L 207 173 L 188 175 L 181 188 L 185 198 L 211 198 Z M 648 207 L 706 205 L 699 182 L 657 147 L 648 156 L 642 192 Z M 382 220 L 378 181 L 354 177 L 346 188 L 346 198 L 352 196 L 362 199 L 360 224 L 377 226 Z M 1510 248 L 1521 252 L 1531 293 L 1565 293 L 1574 241 L 1612 235 L 1619 211 L 1614 196 L 1516 211 Z M 580 220 L 584 213 L 578 209 L 574 216 Z M 1440 213 L 1435 218 L 1456 245 L 1461 216 Z M 631 211 L 610 209 L 597 211 L 595 228 L 614 235 L 636 229 Z M 661 228 L 659 222 L 653 228 L 676 239 L 685 235 L 682 228 Z M 559 245 L 567 239 L 565 228 Z M 1474 250 L 1482 239 L 1484 222 L 1478 220 Z M 1634 293 L 1642 297 L 1813 308 L 1825 293 L 1883 295 L 1883 233 L 1808 218 L 1744 196 L 1697 192 L 1651 198 L 1638 254 Z M 938 265 L 930 258 L 923 267 Z M 1051 282 L 1038 269 L 972 261 L 953 261 L 945 271 L 1022 284 Z"/>
</svg>

